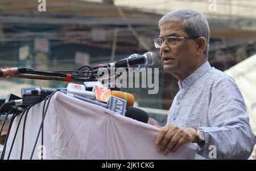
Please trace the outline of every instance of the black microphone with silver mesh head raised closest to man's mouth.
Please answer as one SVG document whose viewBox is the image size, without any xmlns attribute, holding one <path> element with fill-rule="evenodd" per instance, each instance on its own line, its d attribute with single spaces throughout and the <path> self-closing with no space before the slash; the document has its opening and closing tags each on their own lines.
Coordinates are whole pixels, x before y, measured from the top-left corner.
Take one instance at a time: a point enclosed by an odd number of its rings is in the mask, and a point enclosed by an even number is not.
<svg viewBox="0 0 256 171">
<path fill-rule="evenodd" d="M 128 57 L 129 58 L 129 57 Z M 152 65 L 155 64 L 157 60 L 156 54 L 153 52 L 147 52 L 144 53 L 143 55 L 139 55 L 136 58 L 130 58 L 130 59 L 122 59 L 121 61 L 116 61 L 114 63 L 105 63 L 105 65 L 98 65 L 98 66 L 94 66 L 93 70 L 96 70 L 100 67 L 114 67 L 118 68 L 118 67 L 139 67 L 139 65 L 144 65 L 143 67 L 147 68 L 150 67 Z M 129 65 L 128 65 L 129 64 Z"/>
</svg>

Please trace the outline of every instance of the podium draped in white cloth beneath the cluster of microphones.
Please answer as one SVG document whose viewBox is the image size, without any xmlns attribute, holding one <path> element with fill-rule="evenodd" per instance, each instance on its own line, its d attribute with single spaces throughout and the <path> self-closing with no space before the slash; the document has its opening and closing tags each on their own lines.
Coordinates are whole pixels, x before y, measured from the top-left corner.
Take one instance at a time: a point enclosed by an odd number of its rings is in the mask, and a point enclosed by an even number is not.
<svg viewBox="0 0 256 171">
<path fill-rule="evenodd" d="M 42 122 L 44 101 L 32 106 L 27 114 L 22 137 L 24 116 L 20 122 L 10 159 L 30 159 L 36 136 Z M 6 145 L 5 159 L 21 115 L 11 127 Z M 101 106 L 75 99 L 57 92 L 49 102 L 43 126 L 32 159 L 195 159 L 197 146 L 184 144 L 175 153 L 163 155 L 156 150 L 155 138 L 159 128 L 120 116 Z"/>
</svg>

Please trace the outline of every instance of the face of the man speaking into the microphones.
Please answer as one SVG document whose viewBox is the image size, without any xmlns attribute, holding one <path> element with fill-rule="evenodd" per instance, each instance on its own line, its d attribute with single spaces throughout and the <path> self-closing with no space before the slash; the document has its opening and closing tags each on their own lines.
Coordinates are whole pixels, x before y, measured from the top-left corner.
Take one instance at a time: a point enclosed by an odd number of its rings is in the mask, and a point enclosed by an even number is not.
<svg viewBox="0 0 256 171">
<path fill-rule="evenodd" d="M 160 27 L 160 38 L 170 36 L 189 36 L 181 28 L 181 23 L 164 23 Z M 166 41 L 160 47 L 160 57 L 166 72 L 177 74 L 180 78 L 191 74 L 197 66 L 197 49 L 195 40 L 181 39 L 176 45 L 168 46 Z"/>
</svg>

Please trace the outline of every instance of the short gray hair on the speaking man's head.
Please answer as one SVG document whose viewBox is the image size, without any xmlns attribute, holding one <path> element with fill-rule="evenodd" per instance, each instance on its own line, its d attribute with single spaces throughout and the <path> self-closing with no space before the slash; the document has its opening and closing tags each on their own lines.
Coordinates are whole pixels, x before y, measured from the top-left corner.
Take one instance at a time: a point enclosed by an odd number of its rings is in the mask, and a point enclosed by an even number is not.
<svg viewBox="0 0 256 171">
<path fill-rule="evenodd" d="M 204 51 L 205 57 L 208 57 L 210 29 L 207 19 L 200 11 L 195 10 L 175 10 L 164 15 L 159 20 L 159 28 L 167 22 L 181 22 L 183 31 L 189 36 L 205 37 L 206 48 Z"/>
</svg>

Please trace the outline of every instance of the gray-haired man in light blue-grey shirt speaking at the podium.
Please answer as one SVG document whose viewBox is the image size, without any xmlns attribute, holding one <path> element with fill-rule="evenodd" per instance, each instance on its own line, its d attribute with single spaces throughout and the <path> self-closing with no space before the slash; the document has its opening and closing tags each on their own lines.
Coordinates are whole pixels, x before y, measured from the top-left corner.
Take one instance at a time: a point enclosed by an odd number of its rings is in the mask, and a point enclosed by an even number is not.
<svg viewBox="0 0 256 171">
<path fill-rule="evenodd" d="M 179 79 L 167 125 L 155 139 L 164 154 L 186 142 L 198 143 L 196 159 L 248 159 L 255 135 L 236 82 L 208 62 L 209 25 L 199 11 L 175 10 L 159 21 L 163 69 Z"/>
</svg>

